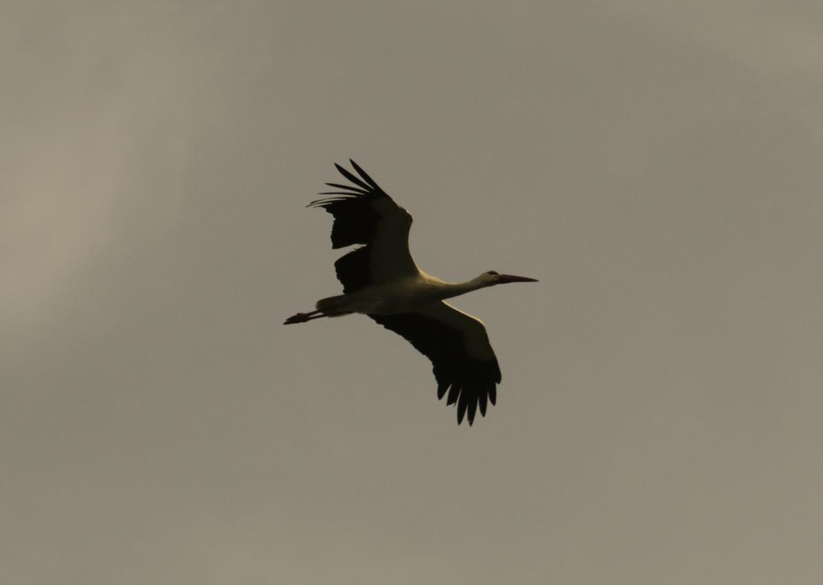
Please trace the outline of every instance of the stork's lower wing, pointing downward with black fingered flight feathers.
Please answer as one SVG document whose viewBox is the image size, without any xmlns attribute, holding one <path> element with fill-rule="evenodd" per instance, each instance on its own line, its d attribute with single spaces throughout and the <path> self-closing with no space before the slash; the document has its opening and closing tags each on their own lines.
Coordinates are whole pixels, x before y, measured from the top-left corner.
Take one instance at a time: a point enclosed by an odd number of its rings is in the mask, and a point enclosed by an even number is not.
<svg viewBox="0 0 823 585">
<path fill-rule="evenodd" d="M 428 357 L 434 366 L 437 398 L 449 391 L 447 404 L 457 403 L 458 425 L 468 411 L 474 422 L 477 407 L 486 416 L 487 403 L 495 403 L 500 366 L 480 320 L 448 303 L 439 301 L 420 311 L 394 315 L 370 315 L 372 319 L 402 335 Z"/>
</svg>

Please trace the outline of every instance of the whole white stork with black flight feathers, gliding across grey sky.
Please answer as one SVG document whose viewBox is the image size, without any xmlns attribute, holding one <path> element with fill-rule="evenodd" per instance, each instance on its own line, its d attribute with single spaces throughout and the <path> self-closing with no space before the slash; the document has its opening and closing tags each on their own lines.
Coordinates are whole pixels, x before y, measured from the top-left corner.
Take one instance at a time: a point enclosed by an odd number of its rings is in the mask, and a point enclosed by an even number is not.
<svg viewBox="0 0 823 585">
<path fill-rule="evenodd" d="M 447 283 L 417 268 L 409 252 L 412 215 L 400 207 L 374 179 L 349 160 L 355 174 L 335 164 L 350 185 L 326 183 L 333 196 L 309 203 L 334 217 L 332 248 L 360 244 L 334 263 L 343 294 L 320 299 L 315 310 L 297 313 L 284 325 L 321 317 L 362 313 L 407 339 L 434 366 L 437 398 L 448 391 L 447 404 L 457 403 L 458 425 L 477 408 L 486 416 L 495 403 L 500 366 L 481 320 L 458 311 L 444 299 L 504 283 L 537 279 L 489 270 L 464 283 Z"/>
</svg>

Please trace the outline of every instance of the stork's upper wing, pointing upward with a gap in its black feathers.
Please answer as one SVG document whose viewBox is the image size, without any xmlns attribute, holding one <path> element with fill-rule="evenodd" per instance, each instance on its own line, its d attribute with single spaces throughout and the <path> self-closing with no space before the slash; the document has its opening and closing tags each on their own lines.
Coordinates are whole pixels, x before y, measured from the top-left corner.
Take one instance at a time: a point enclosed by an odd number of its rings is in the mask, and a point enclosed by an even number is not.
<svg viewBox="0 0 823 585">
<path fill-rule="evenodd" d="M 352 184 L 326 183 L 339 191 L 319 195 L 336 197 L 309 203 L 309 207 L 322 207 L 334 216 L 332 248 L 363 245 L 334 263 L 343 292 L 417 274 L 408 246 L 412 215 L 395 203 L 353 160 L 349 162 L 360 177 L 335 164 Z"/>
</svg>

